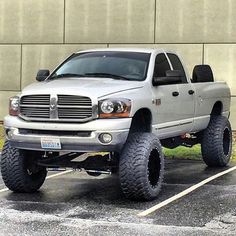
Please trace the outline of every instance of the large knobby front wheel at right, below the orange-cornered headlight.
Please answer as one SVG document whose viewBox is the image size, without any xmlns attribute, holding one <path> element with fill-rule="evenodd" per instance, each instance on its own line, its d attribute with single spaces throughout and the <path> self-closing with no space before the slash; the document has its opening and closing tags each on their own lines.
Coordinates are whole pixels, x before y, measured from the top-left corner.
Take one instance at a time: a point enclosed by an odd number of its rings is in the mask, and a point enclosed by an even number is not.
<svg viewBox="0 0 236 236">
<path fill-rule="evenodd" d="M 121 153 L 119 177 L 125 196 L 152 200 L 158 196 L 164 175 L 164 155 L 159 139 L 150 133 L 134 133 Z"/>
</svg>

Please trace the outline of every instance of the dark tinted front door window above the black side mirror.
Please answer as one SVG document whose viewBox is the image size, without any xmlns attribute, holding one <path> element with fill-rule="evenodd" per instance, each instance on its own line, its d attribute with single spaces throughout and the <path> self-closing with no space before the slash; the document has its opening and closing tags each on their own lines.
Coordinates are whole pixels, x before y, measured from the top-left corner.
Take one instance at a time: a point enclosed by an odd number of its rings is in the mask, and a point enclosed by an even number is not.
<svg viewBox="0 0 236 236">
<path fill-rule="evenodd" d="M 155 61 L 153 77 L 166 77 L 167 70 L 170 70 L 170 65 L 165 54 L 158 54 Z"/>
</svg>

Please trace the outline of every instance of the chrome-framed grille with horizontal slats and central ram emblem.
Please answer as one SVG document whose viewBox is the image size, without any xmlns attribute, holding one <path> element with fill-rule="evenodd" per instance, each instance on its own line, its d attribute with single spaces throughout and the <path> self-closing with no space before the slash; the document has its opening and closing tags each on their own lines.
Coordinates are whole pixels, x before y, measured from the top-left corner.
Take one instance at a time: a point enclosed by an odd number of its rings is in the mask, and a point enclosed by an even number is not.
<svg viewBox="0 0 236 236">
<path fill-rule="evenodd" d="M 55 105 L 56 108 L 52 106 Z M 27 95 L 20 100 L 20 116 L 28 120 L 86 121 L 92 118 L 92 101 L 75 95 Z"/>
</svg>

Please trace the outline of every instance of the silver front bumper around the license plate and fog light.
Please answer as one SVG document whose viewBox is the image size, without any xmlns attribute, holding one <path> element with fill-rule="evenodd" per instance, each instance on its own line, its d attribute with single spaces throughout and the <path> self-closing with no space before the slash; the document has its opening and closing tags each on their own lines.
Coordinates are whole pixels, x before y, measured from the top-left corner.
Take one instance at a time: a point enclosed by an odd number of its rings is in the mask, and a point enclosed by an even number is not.
<svg viewBox="0 0 236 236">
<path fill-rule="evenodd" d="M 4 120 L 7 140 L 10 145 L 27 150 L 59 151 L 58 149 L 44 149 L 41 147 L 41 138 L 58 138 L 61 142 L 61 151 L 93 152 L 93 151 L 120 151 L 129 134 L 131 118 L 93 120 L 83 124 L 71 123 L 42 123 L 26 122 L 18 117 L 7 116 Z M 37 134 L 22 133 L 21 130 L 37 130 Z M 42 134 L 40 131 L 47 131 Z M 65 131 L 63 135 L 50 134 L 54 131 Z M 88 132 L 86 137 L 70 135 L 71 132 Z M 112 135 L 112 141 L 104 144 L 99 140 L 101 133 Z"/>
</svg>

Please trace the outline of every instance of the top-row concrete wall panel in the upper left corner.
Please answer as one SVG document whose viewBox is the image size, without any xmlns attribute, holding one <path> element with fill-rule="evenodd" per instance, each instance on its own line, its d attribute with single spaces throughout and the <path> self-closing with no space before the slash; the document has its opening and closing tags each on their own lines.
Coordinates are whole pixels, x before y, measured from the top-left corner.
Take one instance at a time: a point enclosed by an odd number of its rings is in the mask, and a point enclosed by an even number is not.
<svg viewBox="0 0 236 236">
<path fill-rule="evenodd" d="M 64 0 L 1 0 L 0 43 L 62 43 Z"/>
</svg>

